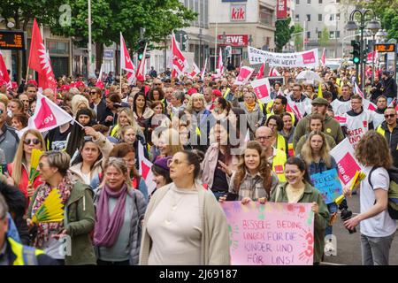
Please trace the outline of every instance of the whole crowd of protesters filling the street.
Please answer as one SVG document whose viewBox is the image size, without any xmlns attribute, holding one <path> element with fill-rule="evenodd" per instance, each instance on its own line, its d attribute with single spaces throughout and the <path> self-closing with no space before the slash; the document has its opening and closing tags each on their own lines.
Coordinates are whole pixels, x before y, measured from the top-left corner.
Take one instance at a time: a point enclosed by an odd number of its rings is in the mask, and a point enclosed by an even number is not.
<svg viewBox="0 0 398 283">
<path fill-rule="evenodd" d="M 373 84 L 366 80 L 361 96 L 355 70 L 316 68 L 322 82 L 295 80 L 301 71 L 279 69 L 269 103 L 249 83 L 234 83 L 239 70 L 202 80 L 152 68 L 134 84 L 112 75 L 100 84 L 63 77 L 56 93 L 40 91 L 73 121 L 47 132 L 26 130 L 36 81 L 10 89 L 0 82 L 0 265 L 230 264 L 220 204 L 230 200 L 312 203 L 319 264 L 325 249 L 335 249 L 325 236 L 349 203 L 326 205 L 310 176 L 337 168 L 330 151 L 357 128 L 355 156 L 371 176 L 360 185 L 360 213 L 344 225 L 361 227 L 363 264 L 388 264 L 396 230 L 387 213 L 387 170 L 398 164 L 396 83 L 384 72 Z M 33 149 L 44 153 L 30 181 Z M 140 174 L 144 158 L 153 164 L 152 191 Z M 64 220 L 34 224 L 54 188 Z M 67 255 L 58 249 L 65 235 Z"/>
</svg>

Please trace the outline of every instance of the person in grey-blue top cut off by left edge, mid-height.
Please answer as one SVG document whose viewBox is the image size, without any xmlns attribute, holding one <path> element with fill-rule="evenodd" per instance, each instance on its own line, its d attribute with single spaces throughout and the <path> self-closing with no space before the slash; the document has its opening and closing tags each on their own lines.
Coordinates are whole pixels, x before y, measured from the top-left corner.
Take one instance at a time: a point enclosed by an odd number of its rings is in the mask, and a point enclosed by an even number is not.
<svg viewBox="0 0 398 283">
<path fill-rule="evenodd" d="M 6 125 L 7 105 L 0 101 L 0 149 L 4 150 L 5 163 L 11 163 L 18 148 L 19 137 Z"/>
</svg>

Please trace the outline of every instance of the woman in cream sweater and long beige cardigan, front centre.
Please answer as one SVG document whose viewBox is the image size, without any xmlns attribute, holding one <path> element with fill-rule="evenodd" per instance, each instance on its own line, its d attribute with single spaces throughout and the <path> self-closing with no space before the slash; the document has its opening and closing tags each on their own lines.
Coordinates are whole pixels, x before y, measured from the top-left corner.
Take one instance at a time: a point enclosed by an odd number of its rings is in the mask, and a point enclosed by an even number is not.
<svg viewBox="0 0 398 283">
<path fill-rule="evenodd" d="M 140 264 L 230 264 L 226 215 L 198 181 L 201 162 L 193 151 L 180 151 L 169 159 L 172 183 L 150 199 Z"/>
</svg>

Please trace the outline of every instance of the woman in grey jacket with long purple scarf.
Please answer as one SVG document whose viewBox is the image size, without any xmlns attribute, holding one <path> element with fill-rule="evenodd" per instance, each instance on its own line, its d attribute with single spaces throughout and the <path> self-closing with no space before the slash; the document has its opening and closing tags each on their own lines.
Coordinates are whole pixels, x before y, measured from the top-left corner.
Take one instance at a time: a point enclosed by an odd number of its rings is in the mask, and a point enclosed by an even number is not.
<svg viewBox="0 0 398 283">
<path fill-rule="evenodd" d="M 95 196 L 97 262 L 99 265 L 138 264 L 140 227 L 147 203 L 142 193 L 131 187 L 122 158 L 109 158 L 103 176 L 103 186 Z"/>
</svg>

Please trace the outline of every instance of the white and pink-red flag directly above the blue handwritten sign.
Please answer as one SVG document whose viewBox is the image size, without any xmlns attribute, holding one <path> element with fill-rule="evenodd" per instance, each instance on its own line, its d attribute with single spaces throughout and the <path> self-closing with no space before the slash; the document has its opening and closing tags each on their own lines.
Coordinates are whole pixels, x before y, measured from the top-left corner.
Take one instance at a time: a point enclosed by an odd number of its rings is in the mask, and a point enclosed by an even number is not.
<svg viewBox="0 0 398 283">
<path fill-rule="evenodd" d="M 354 152 L 354 147 L 348 141 L 348 138 L 345 138 L 330 151 L 330 155 L 336 160 L 339 179 L 343 185 L 347 185 L 354 178 L 356 171 L 362 170 Z"/>
</svg>

